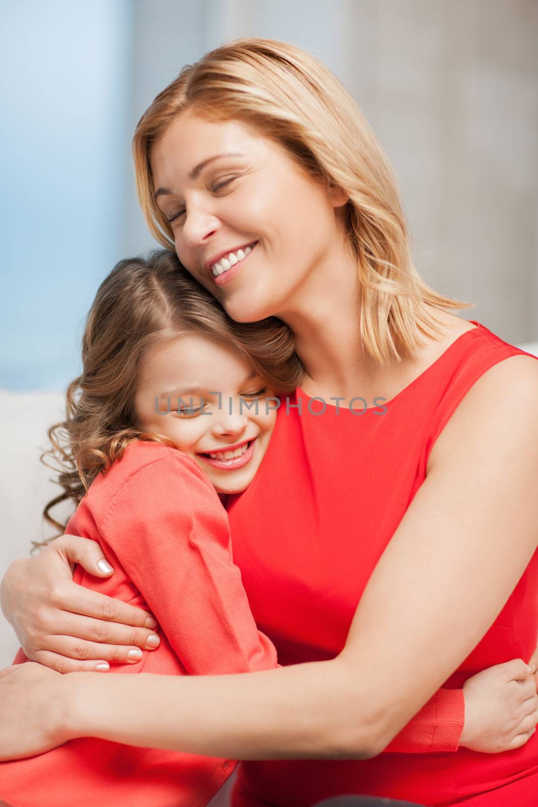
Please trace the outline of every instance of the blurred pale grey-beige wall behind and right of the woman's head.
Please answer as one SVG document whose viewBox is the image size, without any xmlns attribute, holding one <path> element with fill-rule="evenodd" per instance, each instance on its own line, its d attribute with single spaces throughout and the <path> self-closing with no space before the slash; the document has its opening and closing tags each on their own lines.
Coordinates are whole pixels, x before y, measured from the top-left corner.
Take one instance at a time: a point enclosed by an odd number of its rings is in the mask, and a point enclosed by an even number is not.
<svg viewBox="0 0 538 807">
<path fill-rule="evenodd" d="M 514 343 L 538 339 L 537 0 L 195 7 L 135 3 L 138 114 L 150 88 L 233 36 L 308 48 L 348 86 L 395 166 L 420 273 L 476 303 L 466 319 Z M 135 215 L 138 245 L 148 236 Z"/>
</svg>

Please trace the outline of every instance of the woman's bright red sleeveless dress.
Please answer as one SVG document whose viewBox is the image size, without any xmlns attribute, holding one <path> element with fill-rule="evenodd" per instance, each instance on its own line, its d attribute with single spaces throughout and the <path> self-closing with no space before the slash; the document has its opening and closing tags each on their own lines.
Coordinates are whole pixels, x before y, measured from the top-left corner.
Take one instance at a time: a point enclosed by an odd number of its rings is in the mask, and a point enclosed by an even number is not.
<svg viewBox="0 0 538 807">
<path fill-rule="evenodd" d="M 323 403 L 300 389 L 287 412 L 282 400 L 256 479 L 227 507 L 252 614 L 281 664 L 330 659 L 343 648 L 358 600 L 425 479 L 444 425 L 486 370 L 525 354 L 471 322 L 477 327 L 419 378 L 364 414 L 330 405 L 323 412 Z M 499 417 L 509 416 L 499 410 Z M 538 553 L 444 687 L 460 688 L 471 675 L 510 659 L 528 661 L 537 634 Z M 311 807 L 349 793 L 420 805 L 536 807 L 538 732 L 522 748 L 497 755 L 462 748 L 385 752 L 365 761 L 244 762 L 233 805 Z"/>
</svg>

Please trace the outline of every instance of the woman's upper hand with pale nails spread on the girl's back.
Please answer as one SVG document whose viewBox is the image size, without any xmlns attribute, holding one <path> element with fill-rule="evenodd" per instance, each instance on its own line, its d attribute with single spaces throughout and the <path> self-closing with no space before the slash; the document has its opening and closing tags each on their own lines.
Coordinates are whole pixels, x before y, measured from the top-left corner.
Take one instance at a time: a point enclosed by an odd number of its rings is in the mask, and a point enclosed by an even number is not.
<svg viewBox="0 0 538 807">
<path fill-rule="evenodd" d="M 147 644 L 156 635 L 151 614 L 73 583 L 75 563 L 96 577 L 114 571 L 95 541 L 62 535 L 34 558 L 12 563 L 2 580 L 2 612 L 28 659 L 62 673 L 106 671 L 109 662 L 139 661 L 137 648 L 154 650 Z M 128 658 L 130 651 L 138 656 Z"/>
</svg>

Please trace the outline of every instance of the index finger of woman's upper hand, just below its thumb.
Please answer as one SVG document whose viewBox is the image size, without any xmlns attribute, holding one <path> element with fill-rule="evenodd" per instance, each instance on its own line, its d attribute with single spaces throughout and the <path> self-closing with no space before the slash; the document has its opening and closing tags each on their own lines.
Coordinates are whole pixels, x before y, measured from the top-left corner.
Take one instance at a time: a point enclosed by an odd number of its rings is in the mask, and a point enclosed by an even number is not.
<svg viewBox="0 0 538 807">
<path fill-rule="evenodd" d="M 90 542 L 94 543 L 94 541 Z M 134 628 L 156 628 L 154 617 L 147 611 L 143 611 L 142 608 L 136 608 L 135 605 L 129 605 L 122 600 L 115 600 L 106 594 L 93 592 L 90 588 L 77 586 L 76 583 L 73 583 L 73 587 L 69 587 L 69 592 L 62 595 L 58 605 L 60 608 L 82 614 L 85 617 L 119 622 Z M 63 626 L 62 629 L 64 629 Z M 121 644 L 121 640 L 118 643 Z"/>
</svg>

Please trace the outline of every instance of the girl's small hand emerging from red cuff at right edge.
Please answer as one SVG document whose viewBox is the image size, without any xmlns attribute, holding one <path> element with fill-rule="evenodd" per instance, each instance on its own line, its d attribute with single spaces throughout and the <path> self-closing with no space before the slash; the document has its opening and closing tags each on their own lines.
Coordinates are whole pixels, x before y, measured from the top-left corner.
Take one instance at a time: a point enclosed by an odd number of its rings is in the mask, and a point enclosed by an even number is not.
<svg viewBox="0 0 538 807">
<path fill-rule="evenodd" d="M 460 745 L 484 754 L 523 746 L 538 722 L 535 672 L 536 667 L 515 659 L 465 681 Z"/>
</svg>

